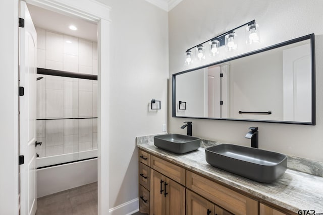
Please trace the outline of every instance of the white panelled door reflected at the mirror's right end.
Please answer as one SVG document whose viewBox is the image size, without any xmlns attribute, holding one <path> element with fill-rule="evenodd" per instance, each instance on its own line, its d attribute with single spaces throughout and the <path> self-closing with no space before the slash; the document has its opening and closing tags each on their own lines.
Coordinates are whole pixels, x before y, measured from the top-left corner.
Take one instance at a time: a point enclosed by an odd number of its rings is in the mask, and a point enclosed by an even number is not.
<svg viewBox="0 0 323 215">
<path fill-rule="evenodd" d="M 311 122 L 310 44 L 283 51 L 284 121 Z"/>
</svg>

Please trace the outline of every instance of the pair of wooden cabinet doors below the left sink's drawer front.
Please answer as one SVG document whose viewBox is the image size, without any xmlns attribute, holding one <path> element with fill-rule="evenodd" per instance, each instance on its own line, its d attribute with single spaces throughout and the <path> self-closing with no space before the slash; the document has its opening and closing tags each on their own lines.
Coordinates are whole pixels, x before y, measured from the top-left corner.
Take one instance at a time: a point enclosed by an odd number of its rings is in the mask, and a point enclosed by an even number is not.
<svg viewBox="0 0 323 215">
<path fill-rule="evenodd" d="M 150 169 L 150 211 L 153 215 L 185 215 L 185 187 Z"/>
</svg>

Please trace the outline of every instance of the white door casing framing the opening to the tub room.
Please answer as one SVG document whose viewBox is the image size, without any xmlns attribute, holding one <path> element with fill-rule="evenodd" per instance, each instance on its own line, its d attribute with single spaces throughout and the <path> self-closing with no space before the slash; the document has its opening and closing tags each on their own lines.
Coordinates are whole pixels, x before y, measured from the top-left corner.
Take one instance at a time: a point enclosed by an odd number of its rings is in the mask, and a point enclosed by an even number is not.
<svg viewBox="0 0 323 215">
<path fill-rule="evenodd" d="M 18 16 L 19 16 L 19 0 L 2 0 L 1 8 L 4 9 L 4 13 L 1 17 L 8 30 L 7 37 L 11 36 L 10 41 L 1 42 L 7 43 L 7 46 L 1 50 L 1 58 L 4 62 L 3 73 L 0 74 L 0 78 L 3 82 L 7 81 L 10 89 L 3 92 L 8 92 L 4 98 L 4 104 L 10 107 L 1 107 L 1 115 L 4 116 L 4 124 L 1 124 L 1 128 L 8 126 L 9 130 L 4 135 L 3 141 L 10 141 L 10 146 L 6 146 L 1 152 L 1 160 L 4 165 L 0 167 L 4 168 L 4 175 L 6 178 L 1 179 L 2 185 L 7 186 L 2 193 L 5 196 L 0 195 L 1 200 L 6 200 L 1 204 L 2 212 L 10 211 L 10 214 L 18 214 Z M 98 214 L 109 214 L 109 119 L 110 119 L 110 11 L 111 8 L 95 0 L 26 0 L 28 4 L 35 5 L 47 10 L 58 12 L 68 16 L 74 16 L 77 18 L 85 19 L 87 21 L 97 23 L 98 26 Z M 0 10 L 3 12 L 3 10 Z M 2 23 L 2 21 L 1 21 Z M 9 36 L 8 36 L 9 35 Z M 4 36 L 5 37 L 5 36 Z M 3 39 L 3 37 L 1 37 Z M 10 51 L 8 51 L 10 50 Z M 2 61 L 1 61 L 2 62 Z M 1 87 L 0 89 L 2 89 Z M 101 94 L 101 92 L 104 92 Z M 9 101 L 7 103 L 6 101 Z M 104 111 L 101 111 L 104 110 Z M 6 116 L 7 115 L 7 116 Z M 6 116 L 6 117 L 5 117 Z M 7 122 L 11 122 L 9 125 Z M 4 131 L 5 132 L 5 131 Z M 5 155 L 3 157 L 3 155 Z M 10 158 L 10 159 L 9 159 Z M 17 162 L 11 162 L 16 161 Z M 2 170 L 1 169 L 1 170 Z M 7 177 L 8 176 L 8 177 Z M 2 186 L 1 185 L 1 186 Z M 1 187 L 2 188 L 2 187 Z M 11 196 L 6 196 L 11 194 Z M 101 203 L 104 202 L 104 203 Z"/>
</svg>

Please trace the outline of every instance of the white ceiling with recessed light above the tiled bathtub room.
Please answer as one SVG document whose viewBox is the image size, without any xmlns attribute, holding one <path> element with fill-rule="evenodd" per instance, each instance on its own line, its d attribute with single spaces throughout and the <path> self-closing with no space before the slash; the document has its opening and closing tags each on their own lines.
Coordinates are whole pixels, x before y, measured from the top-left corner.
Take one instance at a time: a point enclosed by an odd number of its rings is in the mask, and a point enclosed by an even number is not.
<svg viewBox="0 0 323 215">
<path fill-rule="evenodd" d="M 35 27 L 68 34 L 91 41 L 97 41 L 96 24 L 48 11 L 33 5 L 28 5 L 28 10 Z M 73 31 L 69 29 L 70 25 L 76 26 L 77 30 Z"/>
</svg>

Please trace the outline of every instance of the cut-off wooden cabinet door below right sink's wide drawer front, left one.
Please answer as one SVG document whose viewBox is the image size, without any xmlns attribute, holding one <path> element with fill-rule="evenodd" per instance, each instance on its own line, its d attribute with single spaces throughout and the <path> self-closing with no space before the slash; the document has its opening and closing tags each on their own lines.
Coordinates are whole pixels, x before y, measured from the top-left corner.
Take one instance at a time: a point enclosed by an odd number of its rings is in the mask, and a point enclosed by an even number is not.
<svg viewBox="0 0 323 215">
<path fill-rule="evenodd" d="M 210 201 L 190 190 L 186 190 L 186 215 L 213 215 L 215 214 L 214 207 L 214 204 Z"/>
</svg>

